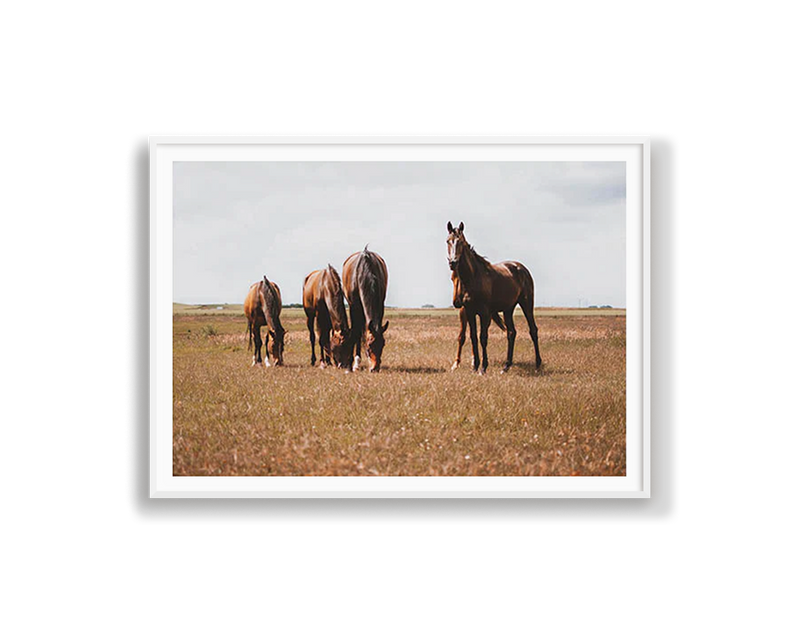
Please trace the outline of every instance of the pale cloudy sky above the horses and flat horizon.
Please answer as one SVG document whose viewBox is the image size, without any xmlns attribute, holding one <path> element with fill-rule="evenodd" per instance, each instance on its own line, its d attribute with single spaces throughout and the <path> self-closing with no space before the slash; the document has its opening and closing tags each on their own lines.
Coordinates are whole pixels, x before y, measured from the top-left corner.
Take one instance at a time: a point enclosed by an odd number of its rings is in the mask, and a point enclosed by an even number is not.
<svg viewBox="0 0 800 640">
<path fill-rule="evenodd" d="M 450 307 L 450 221 L 527 266 L 537 307 L 625 307 L 625 196 L 616 161 L 176 161 L 173 298 L 242 303 L 267 276 L 298 303 L 308 273 L 369 245 L 388 306 Z"/>
</svg>

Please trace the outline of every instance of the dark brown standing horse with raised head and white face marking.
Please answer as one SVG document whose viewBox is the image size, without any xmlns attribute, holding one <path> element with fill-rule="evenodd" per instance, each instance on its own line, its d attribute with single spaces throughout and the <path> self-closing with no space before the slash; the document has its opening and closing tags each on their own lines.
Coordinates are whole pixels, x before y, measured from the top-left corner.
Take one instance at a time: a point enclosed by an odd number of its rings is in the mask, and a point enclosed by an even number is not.
<svg viewBox="0 0 800 640">
<path fill-rule="evenodd" d="M 472 366 L 478 371 L 478 336 L 475 317 L 481 319 L 481 348 L 483 362 L 479 373 L 485 373 L 489 365 L 486 345 L 489 340 L 489 324 L 493 314 L 502 311 L 505 318 L 508 353 L 503 373 L 509 370 L 514 357 L 514 307 L 519 304 L 528 321 L 533 347 L 536 350 L 536 368 L 542 364 L 539 354 L 539 330 L 533 317 L 533 277 L 520 262 L 505 261 L 491 264 L 478 255 L 464 236 L 464 223 L 457 228 L 447 223 L 447 260 L 453 280 L 453 306 L 466 311 L 472 340 Z M 462 329 L 463 331 L 463 329 Z"/>
</svg>

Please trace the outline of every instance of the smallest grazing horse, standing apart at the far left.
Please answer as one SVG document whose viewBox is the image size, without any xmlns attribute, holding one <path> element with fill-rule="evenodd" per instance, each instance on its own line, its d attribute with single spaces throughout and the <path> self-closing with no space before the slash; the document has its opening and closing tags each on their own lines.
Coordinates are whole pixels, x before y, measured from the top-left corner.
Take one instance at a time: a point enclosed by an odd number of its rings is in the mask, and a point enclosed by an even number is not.
<svg viewBox="0 0 800 640">
<path fill-rule="evenodd" d="M 283 364 L 283 337 L 286 331 L 281 324 L 282 308 L 281 290 L 277 284 L 267 280 L 267 276 L 261 282 L 250 285 L 244 299 L 244 315 L 247 317 L 248 348 L 255 342 L 254 367 L 261 364 L 261 327 L 265 325 L 267 357 L 264 366 L 270 366 L 270 354 L 276 366 Z"/>
</svg>

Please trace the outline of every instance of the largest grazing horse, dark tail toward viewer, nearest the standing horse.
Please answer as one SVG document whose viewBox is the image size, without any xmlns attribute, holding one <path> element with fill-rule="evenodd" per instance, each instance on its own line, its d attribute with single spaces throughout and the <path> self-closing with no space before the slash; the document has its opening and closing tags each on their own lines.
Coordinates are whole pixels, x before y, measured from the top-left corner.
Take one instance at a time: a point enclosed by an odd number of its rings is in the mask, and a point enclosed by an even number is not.
<svg viewBox="0 0 800 640">
<path fill-rule="evenodd" d="M 384 300 L 389 282 L 386 262 L 366 247 L 344 261 L 342 279 L 347 302 L 350 304 L 350 325 L 356 356 L 353 371 L 361 362 L 361 340 L 366 339 L 370 372 L 381 369 L 381 356 L 386 344 L 384 334 L 389 322 L 383 322 Z"/>
</svg>

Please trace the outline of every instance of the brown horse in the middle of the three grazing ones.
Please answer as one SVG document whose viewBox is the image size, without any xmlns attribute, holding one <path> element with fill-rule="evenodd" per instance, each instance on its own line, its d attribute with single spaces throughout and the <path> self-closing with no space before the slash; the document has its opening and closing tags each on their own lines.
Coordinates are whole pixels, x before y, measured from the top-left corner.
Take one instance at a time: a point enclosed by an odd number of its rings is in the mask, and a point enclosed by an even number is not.
<svg viewBox="0 0 800 640">
<path fill-rule="evenodd" d="M 308 337 L 311 340 L 311 366 L 317 361 L 314 353 L 314 319 L 319 334 L 320 367 L 333 362 L 349 369 L 353 362 L 350 326 L 344 308 L 344 294 L 339 274 L 331 265 L 312 271 L 303 282 L 303 309 L 306 312 Z"/>
</svg>

